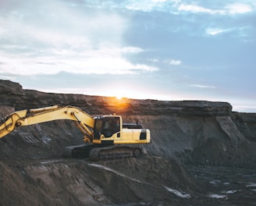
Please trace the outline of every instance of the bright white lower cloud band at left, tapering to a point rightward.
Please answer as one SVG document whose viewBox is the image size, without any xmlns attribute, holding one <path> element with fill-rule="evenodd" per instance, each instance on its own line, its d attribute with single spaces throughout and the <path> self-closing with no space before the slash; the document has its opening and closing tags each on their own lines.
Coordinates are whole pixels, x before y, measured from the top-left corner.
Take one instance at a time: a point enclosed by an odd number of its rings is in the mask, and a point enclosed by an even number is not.
<svg viewBox="0 0 256 206">
<path fill-rule="evenodd" d="M 109 50 L 108 50 L 109 51 Z M 115 51 L 116 52 L 116 51 Z M 120 54 L 108 55 L 103 51 L 84 53 L 69 51 L 48 51 L 47 55 L 34 58 L 23 55 L 1 55 L 0 73 L 20 73 L 21 75 L 55 74 L 62 71 L 69 73 L 126 74 L 154 72 L 158 68 L 145 64 L 132 64 Z"/>
</svg>

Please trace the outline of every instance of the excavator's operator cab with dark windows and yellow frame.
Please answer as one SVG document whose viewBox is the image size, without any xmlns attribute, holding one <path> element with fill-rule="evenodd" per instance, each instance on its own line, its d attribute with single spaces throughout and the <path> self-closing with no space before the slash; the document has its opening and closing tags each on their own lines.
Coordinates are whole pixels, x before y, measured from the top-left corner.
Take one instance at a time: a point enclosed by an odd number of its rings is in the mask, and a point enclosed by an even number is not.
<svg viewBox="0 0 256 206">
<path fill-rule="evenodd" d="M 120 137 L 121 117 L 116 115 L 98 116 L 94 123 L 94 140 L 108 140 Z M 111 138 L 112 137 L 112 138 Z M 102 143 L 102 142 L 101 142 Z"/>
</svg>

